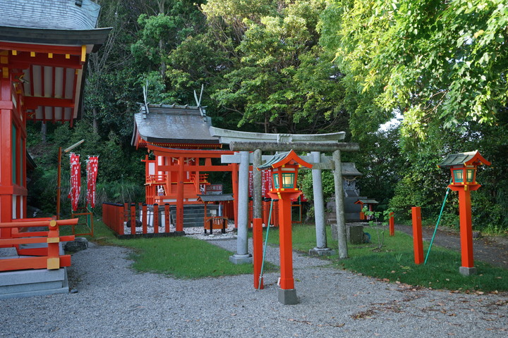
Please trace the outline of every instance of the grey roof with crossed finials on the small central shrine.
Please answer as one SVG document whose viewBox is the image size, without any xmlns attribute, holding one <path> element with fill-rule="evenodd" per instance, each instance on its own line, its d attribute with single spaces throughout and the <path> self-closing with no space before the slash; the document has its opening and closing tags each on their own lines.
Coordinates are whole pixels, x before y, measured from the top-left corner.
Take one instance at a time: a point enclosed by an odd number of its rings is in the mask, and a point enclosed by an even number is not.
<svg viewBox="0 0 508 338">
<path fill-rule="evenodd" d="M 145 142 L 170 147 L 201 144 L 219 146 L 219 139 L 210 135 L 212 122 L 202 107 L 176 105 L 142 105 L 134 115 L 134 135 Z M 137 140 L 133 138 L 133 145 Z"/>
</svg>

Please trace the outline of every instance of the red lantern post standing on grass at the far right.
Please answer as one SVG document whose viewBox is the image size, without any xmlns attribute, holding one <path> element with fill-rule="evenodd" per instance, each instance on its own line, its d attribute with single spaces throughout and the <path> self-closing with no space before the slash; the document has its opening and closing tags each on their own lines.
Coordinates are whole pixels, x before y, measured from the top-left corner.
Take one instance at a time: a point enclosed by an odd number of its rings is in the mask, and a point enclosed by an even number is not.
<svg viewBox="0 0 508 338">
<path fill-rule="evenodd" d="M 459 215 L 460 215 L 460 237 L 461 237 L 461 267 L 459 272 L 462 275 L 474 275 L 476 268 L 473 259 L 473 224 L 471 220 L 471 192 L 481 187 L 476 182 L 476 168 L 478 165 L 490 165 L 478 151 L 467 153 L 450 154 L 442 163 L 440 168 L 450 168 L 452 173 L 452 184 L 449 189 L 459 192 Z"/>
</svg>

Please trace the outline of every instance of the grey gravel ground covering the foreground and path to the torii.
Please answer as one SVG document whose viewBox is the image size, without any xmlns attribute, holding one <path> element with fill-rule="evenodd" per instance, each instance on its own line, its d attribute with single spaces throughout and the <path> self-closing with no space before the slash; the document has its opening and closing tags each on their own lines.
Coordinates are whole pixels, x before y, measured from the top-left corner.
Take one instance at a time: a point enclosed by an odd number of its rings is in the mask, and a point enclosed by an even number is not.
<svg viewBox="0 0 508 338">
<path fill-rule="evenodd" d="M 236 240 L 212 237 L 236 251 Z M 278 273 L 175 280 L 135 273 L 129 250 L 73 254 L 77 293 L 0 300 L 0 337 L 507 337 L 508 294 L 413 289 L 294 255 L 300 303 L 277 301 Z M 249 252 L 252 252 L 250 249 Z M 278 249 L 267 250 L 277 263 Z"/>
</svg>

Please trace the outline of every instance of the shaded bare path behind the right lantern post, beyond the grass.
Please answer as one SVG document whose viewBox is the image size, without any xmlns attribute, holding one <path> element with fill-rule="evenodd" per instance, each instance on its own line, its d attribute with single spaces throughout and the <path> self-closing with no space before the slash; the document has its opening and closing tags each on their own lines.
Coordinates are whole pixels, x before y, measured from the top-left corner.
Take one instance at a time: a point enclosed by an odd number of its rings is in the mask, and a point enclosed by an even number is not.
<svg viewBox="0 0 508 338">
<path fill-rule="evenodd" d="M 413 236 L 413 228 L 409 225 L 395 225 L 395 230 Z M 433 233 L 434 227 L 423 227 L 423 240 L 430 242 Z M 460 251 L 459 232 L 438 228 L 433 242 L 433 246 L 435 245 Z M 473 255 L 477 261 L 508 269 L 508 238 L 488 236 L 473 239 Z"/>
</svg>

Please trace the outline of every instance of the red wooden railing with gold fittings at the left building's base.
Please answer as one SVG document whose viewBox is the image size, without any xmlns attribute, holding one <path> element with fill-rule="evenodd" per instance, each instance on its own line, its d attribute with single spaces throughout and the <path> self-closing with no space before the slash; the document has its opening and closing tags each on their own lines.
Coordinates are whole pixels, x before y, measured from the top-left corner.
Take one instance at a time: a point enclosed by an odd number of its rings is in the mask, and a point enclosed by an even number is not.
<svg viewBox="0 0 508 338">
<path fill-rule="evenodd" d="M 17 257 L 0 259 L 0 271 L 27 269 L 59 269 L 71 265 L 70 255 L 60 255 L 60 242 L 74 240 L 74 235 L 60 236 L 61 225 L 75 225 L 78 218 L 54 220 L 52 218 L 23 218 L 0 223 L 0 229 L 11 229 L 10 238 L 0 238 L 0 247 L 15 247 Z M 47 231 L 26 232 L 29 227 L 47 227 Z M 20 231 L 21 230 L 21 231 Z M 21 249 L 22 244 L 47 244 L 47 247 Z"/>
</svg>

